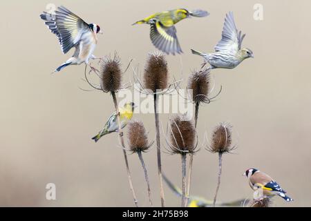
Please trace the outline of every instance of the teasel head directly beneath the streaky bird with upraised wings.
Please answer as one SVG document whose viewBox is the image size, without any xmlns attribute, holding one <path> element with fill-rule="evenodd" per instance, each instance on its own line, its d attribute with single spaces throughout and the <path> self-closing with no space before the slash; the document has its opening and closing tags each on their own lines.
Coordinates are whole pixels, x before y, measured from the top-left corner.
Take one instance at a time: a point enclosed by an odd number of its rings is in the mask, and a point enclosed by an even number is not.
<svg viewBox="0 0 311 221">
<path fill-rule="evenodd" d="M 210 69 L 194 71 L 188 79 L 188 89 L 192 90 L 192 101 L 196 104 L 209 103 L 208 98 L 211 92 Z"/>
</svg>

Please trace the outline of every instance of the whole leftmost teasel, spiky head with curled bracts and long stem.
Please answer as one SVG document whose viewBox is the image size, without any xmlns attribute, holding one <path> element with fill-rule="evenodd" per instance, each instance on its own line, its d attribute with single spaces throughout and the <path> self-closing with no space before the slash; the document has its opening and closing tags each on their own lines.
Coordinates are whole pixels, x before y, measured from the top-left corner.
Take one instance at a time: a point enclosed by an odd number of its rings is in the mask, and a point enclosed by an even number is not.
<svg viewBox="0 0 311 221">
<path fill-rule="evenodd" d="M 119 90 L 122 89 L 122 75 L 124 72 L 122 72 L 120 57 L 115 52 L 115 55 L 113 57 L 105 57 L 103 59 L 100 59 L 99 64 L 100 64 L 100 70 L 96 70 L 92 68 L 90 70 L 90 73 L 93 71 L 97 74 L 97 76 L 100 78 L 100 85 L 97 86 L 88 80 L 88 77 L 86 75 L 86 69 L 85 69 L 84 76 L 86 78 L 86 81 L 91 87 L 97 90 L 102 90 L 104 93 L 111 93 L 111 96 L 113 97 L 113 104 L 115 106 L 115 111 L 116 113 L 120 113 L 119 107 L 117 104 L 117 97 L 115 95 Z M 127 159 L 126 150 L 125 150 L 122 126 L 120 123 L 120 114 L 117 115 L 117 124 L 118 124 L 118 133 L 119 133 L 120 144 L 122 146 L 122 151 L 124 155 L 124 161 L 125 161 L 126 172 L 127 172 L 127 176 L 129 180 L 129 185 L 131 188 L 131 192 L 133 194 L 134 204 L 135 206 L 138 206 L 138 200 L 136 198 L 135 191 L 133 188 L 131 171 L 129 169 L 129 160 Z"/>
</svg>

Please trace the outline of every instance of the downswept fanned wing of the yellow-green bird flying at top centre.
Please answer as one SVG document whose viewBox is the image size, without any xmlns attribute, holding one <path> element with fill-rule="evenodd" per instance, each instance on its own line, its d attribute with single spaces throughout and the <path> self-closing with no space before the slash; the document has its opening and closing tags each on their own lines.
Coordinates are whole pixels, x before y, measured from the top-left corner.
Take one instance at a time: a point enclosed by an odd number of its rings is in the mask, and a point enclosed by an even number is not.
<svg viewBox="0 0 311 221">
<path fill-rule="evenodd" d="M 150 38 L 156 48 L 168 55 L 170 53 L 173 55 L 182 53 L 175 26 L 165 27 L 158 19 L 152 19 L 149 23 L 151 26 Z"/>
</svg>

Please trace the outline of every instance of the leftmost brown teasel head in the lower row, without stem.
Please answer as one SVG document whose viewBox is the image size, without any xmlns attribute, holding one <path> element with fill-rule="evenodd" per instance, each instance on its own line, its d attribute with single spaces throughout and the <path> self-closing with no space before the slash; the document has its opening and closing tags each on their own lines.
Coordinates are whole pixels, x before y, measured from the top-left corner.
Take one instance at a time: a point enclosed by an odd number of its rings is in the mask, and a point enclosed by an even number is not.
<svg viewBox="0 0 311 221">
<path fill-rule="evenodd" d="M 148 141 L 148 135 L 142 121 L 131 121 L 128 129 L 127 137 L 130 151 L 133 153 L 148 151 L 152 143 Z"/>
</svg>

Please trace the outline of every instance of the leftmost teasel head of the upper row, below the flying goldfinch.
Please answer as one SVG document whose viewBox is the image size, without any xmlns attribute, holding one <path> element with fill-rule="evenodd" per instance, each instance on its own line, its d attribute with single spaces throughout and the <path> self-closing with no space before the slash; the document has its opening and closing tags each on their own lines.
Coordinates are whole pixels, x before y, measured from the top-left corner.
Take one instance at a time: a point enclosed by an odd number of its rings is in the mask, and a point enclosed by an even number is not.
<svg viewBox="0 0 311 221">
<path fill-rule="evenodd" d="M 120 57 L 105 57 L 100 61 L 100 86 L 105 93 L 117 92 L 121 88 L 122 70 Z"/>
</svg>

